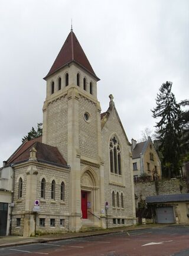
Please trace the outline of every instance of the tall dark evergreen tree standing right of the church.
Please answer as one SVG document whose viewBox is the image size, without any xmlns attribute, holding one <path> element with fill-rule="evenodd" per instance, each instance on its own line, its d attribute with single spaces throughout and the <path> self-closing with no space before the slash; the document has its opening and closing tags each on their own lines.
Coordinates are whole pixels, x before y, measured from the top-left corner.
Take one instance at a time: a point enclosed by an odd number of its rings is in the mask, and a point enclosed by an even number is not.
<svg viewBox="0 0 189 256">
<path fill-rule="evenodd" d="M 162 153 L 163 175 L 175 177 L 180 174 L 180 120 L 181 110 L 174 94 L 171 92 L 172 82 L 166 82 L 159 88 L 154 110 L 151 110 L 155 119 L 160 119 L 156 126 L 159 150 Z"/>
</svg>

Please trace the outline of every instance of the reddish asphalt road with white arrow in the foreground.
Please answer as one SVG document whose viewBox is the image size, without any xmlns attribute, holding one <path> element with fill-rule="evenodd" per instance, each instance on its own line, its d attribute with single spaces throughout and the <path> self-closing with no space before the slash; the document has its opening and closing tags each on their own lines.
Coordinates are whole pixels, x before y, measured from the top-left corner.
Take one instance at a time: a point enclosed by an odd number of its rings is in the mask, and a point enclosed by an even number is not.
<svg viewBox="0 0 189 256">
<path fill-rule="evenodd" d="M 189 227 L 169 226 L 0 249 L 1 256 L 188 256 Z"/>
</svg>

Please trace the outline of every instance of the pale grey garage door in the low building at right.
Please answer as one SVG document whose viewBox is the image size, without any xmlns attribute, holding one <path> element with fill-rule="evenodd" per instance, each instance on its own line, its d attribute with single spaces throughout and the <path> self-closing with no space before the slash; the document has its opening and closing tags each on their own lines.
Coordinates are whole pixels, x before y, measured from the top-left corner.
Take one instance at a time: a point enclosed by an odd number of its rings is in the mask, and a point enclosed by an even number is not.
<svg viewBox="0 0 189 256">
<path fill-rule="evenodd" d="M 174 223 L 173 207 L 159 207 L 157 208 L 157 222 L 158 223 Z"/>
</svg>

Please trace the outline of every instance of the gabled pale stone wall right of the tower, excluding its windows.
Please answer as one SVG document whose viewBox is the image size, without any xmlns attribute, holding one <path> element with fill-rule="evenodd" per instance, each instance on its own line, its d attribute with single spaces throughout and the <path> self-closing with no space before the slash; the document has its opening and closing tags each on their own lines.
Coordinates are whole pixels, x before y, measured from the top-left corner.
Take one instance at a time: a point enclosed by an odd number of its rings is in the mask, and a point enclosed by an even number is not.
<svg viewBox="0 0 189 256">
<path fill-rule="evenodd" d="M 109 166 L 109 143 L 112 136 L 116 136 L 119 141 L 121 150 L 121 164 L 122 175 L 110 173 Z M 125 137 L 124 131 L 119 123 L 118 116 L 115 109 L 113 109 L 108 117 L 105 126 L 102 129 L 102 153 L 104 161 L 104 179 L 105 179 L 105 201 L 109 203 L 108 215 L 109 226 L 113 226 L 113 219 L 122 222 L 124 219 L 125 225 L 133 223 L 133 197 L 132 197 L 132 183 L 131 183 L 131 152 L 128 140 Z M 123 158 L 124 156 L 124 158 Z M 113 175 L 115 177 L 113 177 Z M 112 206 L 112 192 L 115 192 L 115 207 Z M 123 193 L 123 207 L 117 207 L 116 194 Z"/>
</svg>

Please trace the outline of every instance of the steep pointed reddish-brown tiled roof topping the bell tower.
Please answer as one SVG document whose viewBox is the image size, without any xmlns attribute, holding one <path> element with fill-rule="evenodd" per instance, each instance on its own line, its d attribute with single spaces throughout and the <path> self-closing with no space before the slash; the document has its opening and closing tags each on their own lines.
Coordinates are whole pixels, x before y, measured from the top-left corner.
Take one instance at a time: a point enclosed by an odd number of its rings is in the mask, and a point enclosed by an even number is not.
<svg viewBox="0 0 189 256">
<path fill-rule="evenodd" d="M 92 66 L 89 63 L 89 60 L 87 59 L 82 49 L 82 46 L 80 46 L 76 35 L 73 33 L 73 30 L 70 31 L 69 36 L 64 42 L 63 47 L 61 47 L 61 50 L 53 63 L 53 66 L 44 79 L 52 75 L 58 69 L 63 68 L 63 66 L 68 65 L 70 62 L 76 62 L 97 78 Z M 99 80 L 99 78 L 97 79 Z"/>
</svg>

